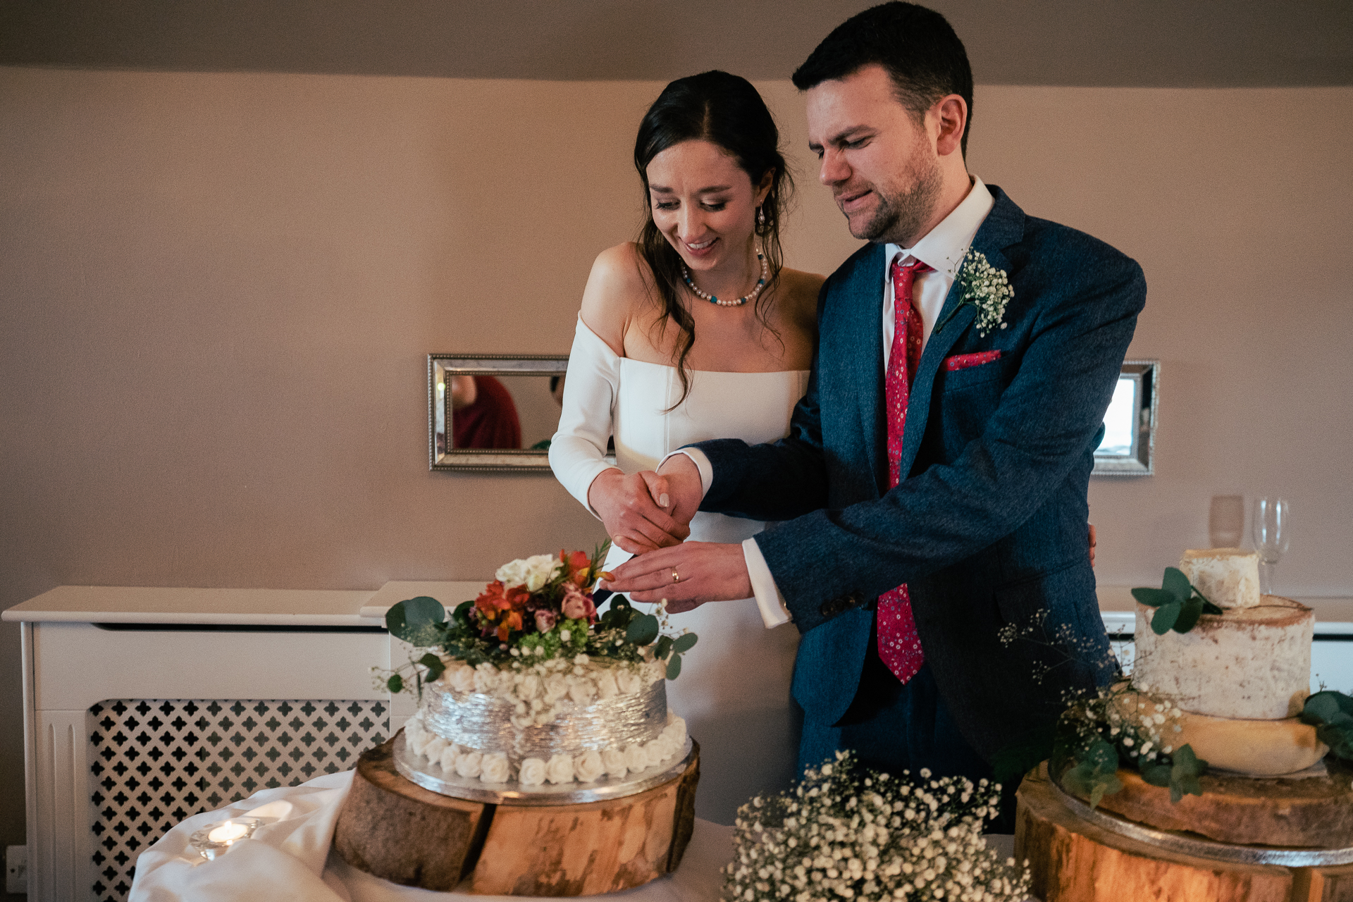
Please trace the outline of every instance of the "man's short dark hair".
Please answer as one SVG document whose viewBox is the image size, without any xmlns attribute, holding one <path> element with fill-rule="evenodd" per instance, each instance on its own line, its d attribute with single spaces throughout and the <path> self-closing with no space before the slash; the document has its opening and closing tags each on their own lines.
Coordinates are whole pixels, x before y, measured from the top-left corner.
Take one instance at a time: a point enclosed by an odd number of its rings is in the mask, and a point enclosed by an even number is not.
<svg viewBox="0 0 1353 902">
<path fill-rule="evenodd" d="M 963 42 L 940 14 L 915 3 L 885 3 L 851 16 L 827 35 L 794 70 L 794 87 L 808 91 L 869 65 L 888 70 L 897 100 L 921 120 L 940 97 L 957 93 L 967 104 L 963 157 L 973 124 L 973 69 Z"/>
</svg>

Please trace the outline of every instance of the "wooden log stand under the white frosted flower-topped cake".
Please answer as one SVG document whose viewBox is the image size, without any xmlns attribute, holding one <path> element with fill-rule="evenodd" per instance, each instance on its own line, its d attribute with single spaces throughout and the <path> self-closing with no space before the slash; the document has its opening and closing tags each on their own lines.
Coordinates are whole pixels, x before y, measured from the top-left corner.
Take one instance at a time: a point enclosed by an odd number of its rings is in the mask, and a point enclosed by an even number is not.
<svg viewBox="0 0 1353 902">
<path fill-rule="evenodd" d="M 357 760 L 334 826 L 334 848 L 348 864 L 392 883 L 479 895 L 614 893 L 675 871 L 694 829 L 694 742 L 685 772 L 667 783 L 553 806 L 433 792 L 395 769 L 394 742 Z"/>
</svg>

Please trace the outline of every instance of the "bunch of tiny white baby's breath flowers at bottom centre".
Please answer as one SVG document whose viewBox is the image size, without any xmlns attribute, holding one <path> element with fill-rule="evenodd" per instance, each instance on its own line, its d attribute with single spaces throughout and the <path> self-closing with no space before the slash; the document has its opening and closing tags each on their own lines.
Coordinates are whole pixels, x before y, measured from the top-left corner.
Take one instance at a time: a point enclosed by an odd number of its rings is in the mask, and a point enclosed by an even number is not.
<svg viewBox="0 0 1353 902">
<path fill-rule="evenodd" d="M 724 902 L 1024 899 L 1028 868 L 982 840 L 999 805 L 999 783 L 927 769 L 915 782 L 838 752 L 792 791 L 737 810 Z"/>
</svg>

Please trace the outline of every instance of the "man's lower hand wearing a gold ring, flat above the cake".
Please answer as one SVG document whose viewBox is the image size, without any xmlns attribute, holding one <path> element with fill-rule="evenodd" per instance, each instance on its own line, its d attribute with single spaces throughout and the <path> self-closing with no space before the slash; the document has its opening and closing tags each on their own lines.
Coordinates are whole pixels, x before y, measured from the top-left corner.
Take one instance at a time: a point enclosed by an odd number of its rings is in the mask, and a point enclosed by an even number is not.
<svg viewBox="0 0 1353 902">
<path fill-rule="evenodd" d="M 717 542 L 685 542 L 632 557 L 616 568 L 605 587 L 629 592 L 636 602 L 667 599 L 672 614 L 752 594 L 743 546 Z"/>
</svg>

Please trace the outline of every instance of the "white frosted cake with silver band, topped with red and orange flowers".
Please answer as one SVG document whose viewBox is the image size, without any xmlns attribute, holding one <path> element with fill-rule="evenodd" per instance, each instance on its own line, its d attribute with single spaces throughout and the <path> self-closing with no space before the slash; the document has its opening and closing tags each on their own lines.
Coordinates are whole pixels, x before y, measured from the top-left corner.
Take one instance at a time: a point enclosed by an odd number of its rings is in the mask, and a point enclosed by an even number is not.
<svg viewBox="0 0 1353 902">
<path fill-rule="evenodd" d="M 667 710 L 664 682 L 695 634 L 664 632 L 663 606 L 645 614 L 622 595 L 598 610 L 605 556 L 603 545 L 509 561 L 449 617 L 428 596 L 386 614 L 414 652 L 383 686 L 418 696 L 405 748 L 418 768 L 440 768 L 437 786 L 625 782 L 681 757 L 686 723 Z"/>
</svg>

